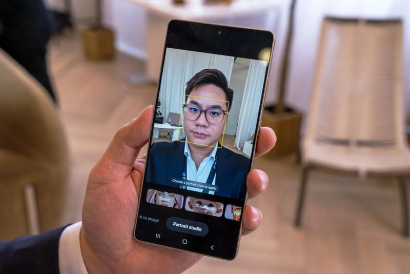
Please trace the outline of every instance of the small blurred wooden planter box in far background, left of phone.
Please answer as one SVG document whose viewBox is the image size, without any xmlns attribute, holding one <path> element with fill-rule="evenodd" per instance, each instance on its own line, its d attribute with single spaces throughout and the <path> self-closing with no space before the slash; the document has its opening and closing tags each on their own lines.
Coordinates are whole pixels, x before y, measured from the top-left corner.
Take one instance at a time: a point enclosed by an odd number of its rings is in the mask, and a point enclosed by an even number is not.
<svg viewBox="0 0 410 274">
<path fill-rule="evenodd" d="M 114 57 L 114 32 L 106 28 L 81 30 L 86 56 L 93 60 L 107 60 Z"/>
</svg>

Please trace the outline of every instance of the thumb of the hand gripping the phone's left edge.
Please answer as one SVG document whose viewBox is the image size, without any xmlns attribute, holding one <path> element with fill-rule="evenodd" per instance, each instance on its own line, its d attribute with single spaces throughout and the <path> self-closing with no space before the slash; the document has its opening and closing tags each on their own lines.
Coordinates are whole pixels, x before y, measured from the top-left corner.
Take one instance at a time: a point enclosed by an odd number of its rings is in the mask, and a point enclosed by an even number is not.
<svg viewBox="0 0 410 274">
<path fill-rule="evenodd" d="M 118 129 L 93 171 L 97 169 L 100 175 L 111 180 L 127 177 L 139 151 L 148 142 L 153 114 L 154 106 L 148 106 L 137 118 Z"/>
</svg>

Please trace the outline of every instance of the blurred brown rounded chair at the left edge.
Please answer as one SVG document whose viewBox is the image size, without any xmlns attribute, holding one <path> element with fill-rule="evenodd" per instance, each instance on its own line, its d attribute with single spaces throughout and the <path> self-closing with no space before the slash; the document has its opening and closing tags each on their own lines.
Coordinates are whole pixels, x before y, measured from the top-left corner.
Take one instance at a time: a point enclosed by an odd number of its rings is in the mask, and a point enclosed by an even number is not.
<svg viewBox="0 0 410 274">
<path fill-rule="evenodd" d="M 68 170 L 51 96 L 0 49 L 0 241 L 62 225 Z"/>
</svg>

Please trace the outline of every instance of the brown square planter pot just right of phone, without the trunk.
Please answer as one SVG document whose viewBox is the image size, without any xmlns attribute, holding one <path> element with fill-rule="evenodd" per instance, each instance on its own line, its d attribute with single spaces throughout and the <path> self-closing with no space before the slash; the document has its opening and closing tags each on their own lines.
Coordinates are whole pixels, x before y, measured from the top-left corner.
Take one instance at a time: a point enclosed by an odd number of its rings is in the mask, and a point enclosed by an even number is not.
<svg viewBox="0 0 410 274">
<path fill-rule="evenodd" d="M 286 108 L 285 112 L 276 114 L 274 109 L 275 106 L 265 107 L 262 115 L 262 126 L 272 128 L 277 137 L 275 147 L 266 154 L 270 158 L 298 151 L 302 123 L 301 112 Z"/>
</svg>

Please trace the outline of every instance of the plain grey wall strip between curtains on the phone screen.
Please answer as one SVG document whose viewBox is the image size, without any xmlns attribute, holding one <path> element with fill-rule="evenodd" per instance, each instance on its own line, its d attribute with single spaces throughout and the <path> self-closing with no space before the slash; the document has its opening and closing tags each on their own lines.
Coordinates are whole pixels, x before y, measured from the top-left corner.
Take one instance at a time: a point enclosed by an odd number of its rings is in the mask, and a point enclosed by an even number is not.
<svg viewBox="0 0 410 274">
<path fill-rule="evenodd" d="M 251 60 L 237 58 L 232 67 L 231 80 L 229 86 L 234 90 L 234 100 L 232 101 L 231 111 L 228 115 L 225 134 L 236 135 L 238 128 L 239 113 L 242 104 L 243 91 L 247 82 L 249 65 Z"/>
</svg>

